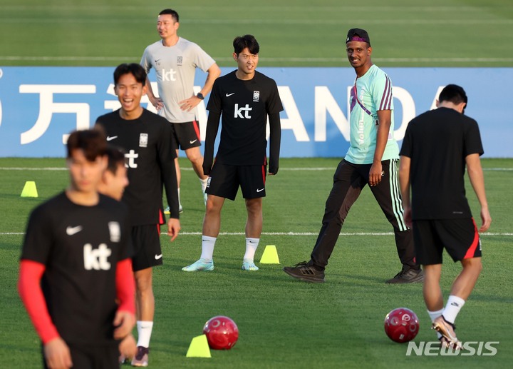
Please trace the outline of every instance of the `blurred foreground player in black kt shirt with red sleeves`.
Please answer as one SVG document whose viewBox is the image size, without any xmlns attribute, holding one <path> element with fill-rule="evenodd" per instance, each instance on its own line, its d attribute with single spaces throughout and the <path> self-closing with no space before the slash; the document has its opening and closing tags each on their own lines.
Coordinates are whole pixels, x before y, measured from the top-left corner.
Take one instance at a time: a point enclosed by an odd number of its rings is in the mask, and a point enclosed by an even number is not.
<svg viewBox="0 0 513 369">
<path fill-rule="evenodd" d="M 70 185 L 28 220 L 19 293 L 45 368 L 115 368 L 135 324 L 128 209 L 96 189 L 105 148 L 99 130 L 71 133 Z"/>
</svg>

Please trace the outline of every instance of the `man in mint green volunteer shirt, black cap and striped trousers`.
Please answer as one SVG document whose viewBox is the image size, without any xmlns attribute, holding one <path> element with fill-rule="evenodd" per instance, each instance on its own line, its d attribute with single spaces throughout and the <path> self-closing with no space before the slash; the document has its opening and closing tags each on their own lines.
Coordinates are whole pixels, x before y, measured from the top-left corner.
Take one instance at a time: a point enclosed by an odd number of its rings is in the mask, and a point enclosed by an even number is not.
<svg viewBox="0 0 513 369">
<path fill-rule="evenodd" d="M 371 39 L 363 29 L 350 29 L 346 39 L 349 63 L 356 71 L 351 89 L 351 146 L 338 164 L 333 188 L 311 260 L 285 273 L 307 282 L 324 282 L 324 269 L 333 252 L 349 209 L 368 184 L 394 228 L 395 244 L 403 268 L 386 283 L 413 283 L 424 278 L 415 262 L 413 237 L 403 218 L 403 203 L 398 186 L 399 148 L 393 138 L 392 83 L 384 71 L 372 64 Z"/>
</svg>

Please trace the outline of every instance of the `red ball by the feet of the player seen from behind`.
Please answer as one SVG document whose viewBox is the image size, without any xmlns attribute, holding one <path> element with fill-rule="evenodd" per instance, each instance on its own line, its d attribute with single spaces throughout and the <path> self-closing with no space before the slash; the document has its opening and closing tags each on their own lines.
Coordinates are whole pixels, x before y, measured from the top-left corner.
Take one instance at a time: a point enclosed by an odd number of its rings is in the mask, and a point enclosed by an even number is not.
<svg viewBox="0 0 513 369">
<path fill-rule="evenodd" d="M 398 343 L 415 338 L 419 330 L 418 318 L 412 310 L 397 308 L 385 316 L 385 333 L 390 340 Z"/>
</svg>

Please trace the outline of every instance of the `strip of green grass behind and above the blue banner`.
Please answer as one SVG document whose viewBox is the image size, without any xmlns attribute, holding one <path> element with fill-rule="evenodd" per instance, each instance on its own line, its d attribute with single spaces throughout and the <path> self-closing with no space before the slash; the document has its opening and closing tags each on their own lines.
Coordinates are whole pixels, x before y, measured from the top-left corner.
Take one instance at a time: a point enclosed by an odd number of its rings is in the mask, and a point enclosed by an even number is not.
<svg viewBox="0 0 513 369">
<path fill-rule="evenodd" d="M 512 66 L 507 0 L 2 0 L 0 66 L 116 66 L 140 61 L 172 7 L 179 34 L 220 66 L 254 34 L 261 66 L 348 66 L 348 29 L 369 31 L 379 66 Z"/>
</svg>

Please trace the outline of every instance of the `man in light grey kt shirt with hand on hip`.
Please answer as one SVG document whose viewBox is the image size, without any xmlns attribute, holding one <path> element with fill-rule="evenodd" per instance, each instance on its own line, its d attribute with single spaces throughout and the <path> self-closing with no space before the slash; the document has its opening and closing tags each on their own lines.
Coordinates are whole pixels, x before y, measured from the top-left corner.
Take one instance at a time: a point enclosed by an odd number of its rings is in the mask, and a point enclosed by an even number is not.
<svg viewBox="0 0 513 369">
<path fill-rule="evenodd" d="M 203 157 L 199 151 L 201 138 L 196 107 L 212 90 L 215 79 L 221 75 L 221 69 L 201 47 L 178 36 L 179 27 L 180 17 L 175 10 L 160 11 L 157 17 L 157 31 L 160 40 L 147 46 L 140 64 L 146 73 L 151 68 L 155 69 L 159 97 L 156 98 L 153 94 L 150 79 L 146 80 L 147 96 L 160 115 L 170 121 L 175 128 L 173 138 L 177 149 L 175 165 L 178 178 L 178 201 L 180 201 L 181 178 L 178 149 L 182 148 L 201 182 L 206 205 L 207 195 L 204 191 L 207 188 L 207 176 L 203 173 Z M 193 90 L 197 68 L 208 74 L 199 93 L 195 93 Z M 181 204 L 180 211 L 182 211 Z"/>
</svg>

